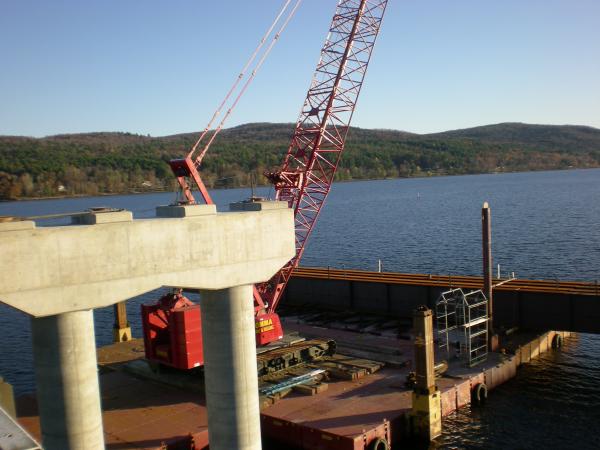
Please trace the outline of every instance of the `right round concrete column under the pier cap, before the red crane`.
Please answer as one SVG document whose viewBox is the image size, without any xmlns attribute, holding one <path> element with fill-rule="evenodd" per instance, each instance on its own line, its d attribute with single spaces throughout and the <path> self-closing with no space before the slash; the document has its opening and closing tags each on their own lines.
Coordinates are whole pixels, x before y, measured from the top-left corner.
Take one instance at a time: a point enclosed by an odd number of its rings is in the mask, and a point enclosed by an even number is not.
<svg viewBox="0 0 600 450">
<path fill-rule="evenodd" d="M 252 286 L 201 291 L 211 450 L 261 448 Z"/>
</svg>

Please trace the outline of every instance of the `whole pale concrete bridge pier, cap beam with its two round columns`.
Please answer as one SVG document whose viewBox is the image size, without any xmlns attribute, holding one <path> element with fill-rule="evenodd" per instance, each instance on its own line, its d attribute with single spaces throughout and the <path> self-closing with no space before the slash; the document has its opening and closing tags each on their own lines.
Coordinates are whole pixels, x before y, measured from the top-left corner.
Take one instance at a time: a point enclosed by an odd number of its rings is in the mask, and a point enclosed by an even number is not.
<svg viewBox="0 0 600 450">
<path fill-rule="evenodd" d="M 161 286 L 204 293 L 211 448 L 260 449 L 251 286 L 271 278 L 295 245 L 287 203 L 252 208 L 161 206 L 155 219 L 109 211 L 73 226 L 0 224 L 0 301 L 34 317 L 46 450 L 104 448 L 92 310 Z M 116 310 L 121 332 L 124 304 Z"/>
</svg>

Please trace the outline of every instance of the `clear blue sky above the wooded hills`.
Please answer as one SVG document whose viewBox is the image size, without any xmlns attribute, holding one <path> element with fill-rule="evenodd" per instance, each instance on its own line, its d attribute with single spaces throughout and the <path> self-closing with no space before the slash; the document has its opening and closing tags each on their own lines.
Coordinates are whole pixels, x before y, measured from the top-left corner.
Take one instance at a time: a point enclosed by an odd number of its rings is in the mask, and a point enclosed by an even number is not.
<svg viewBox="0 0 600 450">
<path fill-rule="evenodd" d="M 202 129 L 283 0 L 1 0 L 0 134 Z M 228 126 L 294 122 L 335 0 L 304 0 Z M 389 0 L 353 125 L 600 128 L 600 1 Z"/>
</svg>

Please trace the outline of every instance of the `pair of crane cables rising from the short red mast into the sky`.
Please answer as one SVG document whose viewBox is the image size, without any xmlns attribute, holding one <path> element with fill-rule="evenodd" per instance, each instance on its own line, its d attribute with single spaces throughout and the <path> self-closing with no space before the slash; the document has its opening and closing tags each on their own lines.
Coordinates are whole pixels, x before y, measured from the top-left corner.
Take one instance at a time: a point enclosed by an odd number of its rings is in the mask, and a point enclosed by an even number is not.
<svg viewBox="0 0 600 450">
<path fill-rule="evenodd" d="M 200 135 L 200 137 L 198 138 L 198 140 L 196 141 L 196 143 L 193 145 L 192 149 L 188 153 L 188 157 L 191 157 L 193 155 L 193 153 L 198 149 L 199 145 L 201 144 L 201 142 L 204 139 L 204 137 L 206 136 L 206 134 L 210 131 L 210 128 L 212 127 L 214 121 L 216 120 L 216 118 L 221 113 L 223 107 L 225 106 L 225 104 L 227 103 L 227 101 L 229 100 L 229 98 L 231 97 L 231 95 L 233 94 L 233 92 L 236 90 L 236 88 L 237 88 L 238 84 L 240 83 L 240 81 L 245 77 L 248 68 L 254 62 L 254 60 L 256 59 L 256 57 L 258 56 L 261 48 L 267 42 L 268 37 L 273 32 L 273 29 L 276 27 L 276 25 L 280 22 L 282 16 L 284 15 L 285 11 L 287 10 L 287 8 L 288 8 L 288 6 L 290 5 L 291 2 L 292 2 L 292 0 L 286 0 L 286 2 L 284 3 L 283 7 L 281 8 L 281 10 L 279 11 L 279 13 L 275 17 L 275 20 L 273 21 L 273 23 L 271 24 L 271 26 L 268 28 L 268 30 L 265 33 L 265 35 L 263 36 L 263 38 L 260 40 L 258 46 L 254 50 L 254 52 L 252 53 L 252 55 L 250 56 L 250 58 L 248 59 L 248 61 L 246 62 L 246 64 L 244 65 L 242 71 L 238 75 L 237 79 L 235 80 L 235 82 L 233 83 L 233 85 L 231 86 L 231 88 L 229 89 L 229 92 L 227 93 L 227 95 L 225 96 L 225 98 L 223 99 L 223 101 L 221 102 L 221 104 L 219 105 L 219 107 L 217 108 L 217 110 L 214 112 L 211 120 L 208 122 L 208 125 L 206 126 L 206 128 L 204 128 L 204 130 L 202 131 L 202 134 Z M 267 58 L 267 56 L 269 55 L 269 53 L 271 52 L 271 50 L 273 49 L 273 46 L 279 40 L 279 37 L 280 37 L 281 33 L 283 32 L 283 30 L 285 30 L 285 28 L 287 27 L 288 23 L 290 22 L 290 20 L 292 19 L 292 17 L 296 13 L 298 7 L 300 6 L 300 3 L 302 3 L 302 0 L 296 0 L 296 3 L 294 5 L 294 7 L 288 12 L 287 17 L 283 21 L 283 24 L 281 25 L 281 27 L 279 28 L 279 30 L 275 33 L 275 35 L 271 38 L 271 42 L 267 46 L 266 50 L 264 51 L 262 57 L 259 59 L 258 63 L 254 67 L 254 69 L 252 69 L 252 72 L 251 72 L 250 76 L 248 77 L 248 79 L 246 80 L 246 82 L 244 83 L 244 85 L 242 86 L 240 92 L 238 93 L 237 97 L 234 99 L 233 103 L 231 104 L 231 106 L 229 107 L 229 109 L 227 110 L 227 112 L 225 113 L 225 115 L 223 116 L 223 119 L 221 120 L 221 122 L 219 123 L 219 125 L 217 126 L 217 128 L 215 129 L 215 131 L 214 131 L 213 135 L 211 136 L 210 140 L 202 148 L 202 151 L 200 152 L 200 154 L 194 159 L 194 163 L 195 163 L 196 166 L 198 166 L 200 164 L 200 162 L 202 161 L 202 158 L 204 157 L 204 155 L 208 151 L 209 147 L 211 146 L 211 144 L 213 143 L 213 141 L 215 140 L 215 138 L 217 137 L 217 135 L 219 134 L 219 132 L 223 129 L 223 125 L 225 124 L 225 121 L 229 118 L 229 116 L 233 112 L 234 108 L 238 104 L 240 98 L 246 92 L 246 89 L 248 88 L 248 86 L 250 85 L 250 83 L 252 82 L 252 80 L 254 79 L 254 77 L 256 76 L 258 70 L 260 69 L 260 67 L 264 63 L 265 59 Z"/>
</svg>

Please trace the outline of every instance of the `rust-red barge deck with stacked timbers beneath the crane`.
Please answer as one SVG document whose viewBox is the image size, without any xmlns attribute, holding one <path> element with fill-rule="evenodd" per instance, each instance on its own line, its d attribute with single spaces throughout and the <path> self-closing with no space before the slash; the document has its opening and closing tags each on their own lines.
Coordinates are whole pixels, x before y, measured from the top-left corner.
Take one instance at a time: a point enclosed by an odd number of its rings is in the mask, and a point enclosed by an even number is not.
<svg viewBox="0 0 600 450">
<path fill-rule="evenodd" d="M 327 378 L 316 383 L 322 389 L 288 389 L 261 398 L 264 448 L 368 449 L 378 438 L 393 448 L 410 437 L 412 391 L 405 381 L 412 370 L 413 345 L 406 333 L 356 333 L 296 323 L 293 318 L 285 327 L 307 339 L 333 339 L 341 353 L 293 369 L 298 374 L 325 368 Z M 487 361 L 473 368 L 450 360 L 447 372 L 437 379 L 442 414 L 468 405 L 478 383 L 493 389 L 514 377 L 520 364 L 552 348 L 556 334 L 505 336 L 501 352 L 490 353 Z M 106 447 L 207 448 L 201 372 L 157 373 L 148 368 L 143 355 L 141 340 L 98 350 Z M 20 423 L 39 438 L 35 398 L 20 398 L 18 412 Z"/>
</svg>

